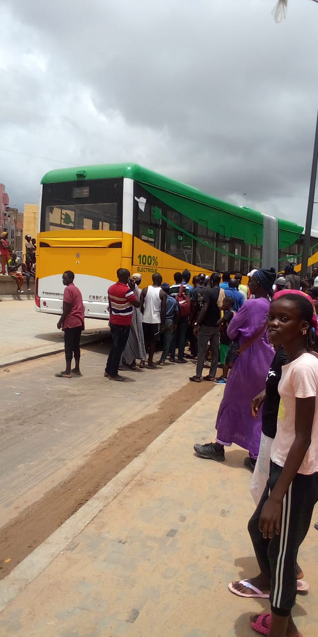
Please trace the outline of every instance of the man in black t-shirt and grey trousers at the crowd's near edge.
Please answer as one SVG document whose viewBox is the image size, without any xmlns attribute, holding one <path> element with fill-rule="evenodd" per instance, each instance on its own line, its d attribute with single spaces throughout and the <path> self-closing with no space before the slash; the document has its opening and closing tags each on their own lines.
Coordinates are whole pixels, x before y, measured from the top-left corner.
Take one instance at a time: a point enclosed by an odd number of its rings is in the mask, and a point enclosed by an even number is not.
<svg viewBox="0 0 318 637">
<path fill-rule="evenodd" d="M 210 341 L 211 349 L 211 368 L 209 375 L 204 377 L 204 380 L 211 380 L 213 382 L 216 370 L 218 369 L 219 360 L 219 282 L 221 276 L 214 272 L 210 277 L 211 287 L 205 287 L 200 290 L 200 296 L 202 296 L 202 309 L 198 315 L 198 320 L 195 324 L 195 332 L 197 332 L 198 338 L 198 359 L 197 359 L 197 371 L 195 376 L 190 376 L 190 380 L 195 383 L 200 383 L 202 378 L 202 369 L 204 366 L 205 351 L 207 343 Z M 200 298 L 198 299 L 200 302 Z"/>
</svg>

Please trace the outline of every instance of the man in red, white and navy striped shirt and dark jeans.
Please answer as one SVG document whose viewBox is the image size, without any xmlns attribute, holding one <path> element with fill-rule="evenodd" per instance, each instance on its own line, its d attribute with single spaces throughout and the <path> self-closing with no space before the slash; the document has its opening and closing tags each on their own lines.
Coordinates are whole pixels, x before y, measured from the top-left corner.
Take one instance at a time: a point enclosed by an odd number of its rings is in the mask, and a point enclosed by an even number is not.
<svg viewBox="0 0 318 637">
<path fill-rule="evenodd" d="M 135 282 L 130 280 L 130 272 L 125 268 L 117 270 L 118 282 L 108 289 L 109 326 L 113 338 L 113 347 L 109 352 L 104 376 L 111 380 L 126 380 L 118 374 L 121 354 L 126 347 L 130 326 L 132 324 L 132 308 L 140 308 L 140 301 L 135 295 Z"/>
</svg>

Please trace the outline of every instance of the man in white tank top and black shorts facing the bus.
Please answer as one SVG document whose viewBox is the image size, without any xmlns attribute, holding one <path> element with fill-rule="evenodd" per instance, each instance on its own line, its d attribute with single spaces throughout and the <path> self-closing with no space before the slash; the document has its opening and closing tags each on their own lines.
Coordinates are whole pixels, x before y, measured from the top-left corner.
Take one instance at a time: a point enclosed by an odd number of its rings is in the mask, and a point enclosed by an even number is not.
<svg viewBox="0 0 318 637">
<path fill-rule="evenodd" d="M 156 343 L 160 340 L 161 327 L 165 325 L 165 306 L 167 294 L 160 285 L 162 276 L 153 274 L 153 285 L 144 287 L 141 292 L 142 329 L 144 331 L 144 344 L 148 352 L 148 368 L 156 369 L 153 362 Z"/>
</svg>

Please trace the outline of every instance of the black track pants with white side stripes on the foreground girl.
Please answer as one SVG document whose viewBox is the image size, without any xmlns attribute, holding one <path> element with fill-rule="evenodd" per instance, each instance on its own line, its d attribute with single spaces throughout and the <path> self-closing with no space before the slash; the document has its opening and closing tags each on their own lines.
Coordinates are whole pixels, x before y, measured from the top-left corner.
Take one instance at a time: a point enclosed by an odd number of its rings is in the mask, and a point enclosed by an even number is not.
<svg viewBox="0 0 318 637">
<path fill-rule="evenodd" d="M 312 511 L 318 501 L 318 473 L 298 473 L 284 497 L 280 534 L 265 540 L 258 529 L 259 517 L 270 489 L 275 486 L 282 467 L 270 464 L 270 478 L 248 529 L 256 559 L 263 575 L 271 582 L 270 603 L 272 612 L 287 617 L 296 600 L 296 561 L 298 548 L 305 540 Z"/>
</svg>

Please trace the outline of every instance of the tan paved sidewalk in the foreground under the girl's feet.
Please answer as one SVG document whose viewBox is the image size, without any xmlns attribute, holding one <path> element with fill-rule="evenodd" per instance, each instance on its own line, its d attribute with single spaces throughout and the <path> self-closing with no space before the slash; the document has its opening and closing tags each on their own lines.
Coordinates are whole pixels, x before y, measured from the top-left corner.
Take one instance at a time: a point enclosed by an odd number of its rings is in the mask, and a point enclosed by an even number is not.
<svg viewBox="0 0 318 637">
<path fill-rule="evenodd" d="M 268 600 L 228 590 L 258 573 L 246 452 L 233 445 L 223 463 L 193 452 L 214 439 L 222 395 L 212 387 L 0 582 L 1 636 L 255 634 L 249 615 Z M 294 608 L 303 637 L 317 634 L 317 544 L 312 524 L 300 550 L 310 589 Z"/>
</svg>

